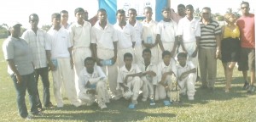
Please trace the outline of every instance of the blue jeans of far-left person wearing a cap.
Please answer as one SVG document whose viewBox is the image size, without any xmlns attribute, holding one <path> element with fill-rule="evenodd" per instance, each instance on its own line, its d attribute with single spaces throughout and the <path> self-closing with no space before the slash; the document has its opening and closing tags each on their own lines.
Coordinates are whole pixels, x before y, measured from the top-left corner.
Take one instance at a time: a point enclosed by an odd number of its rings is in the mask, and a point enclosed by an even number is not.
<svg viewBox="0 0 256 122">
<path fill-rule="evenodd" d="M 28 115 L 27 109 L 26 109 L 26 102 L 25 102 L 25 96 L 26 96 L 26 89 L 29 94 L 29 102 L 31 104 L 31 113 L 32 114 L 38 114 L 38 108 L 37 108 L 37 86 L 34 74 L 29 75 L 21 75 L 21 82 L 18 84 L 16 75 L 10 75 L 12 80 L 15 84 L 15 90 L 17 94 L 17 104 L 19 108 L 19 113 L 22 118 L 26 118 Z"/>
</svg>

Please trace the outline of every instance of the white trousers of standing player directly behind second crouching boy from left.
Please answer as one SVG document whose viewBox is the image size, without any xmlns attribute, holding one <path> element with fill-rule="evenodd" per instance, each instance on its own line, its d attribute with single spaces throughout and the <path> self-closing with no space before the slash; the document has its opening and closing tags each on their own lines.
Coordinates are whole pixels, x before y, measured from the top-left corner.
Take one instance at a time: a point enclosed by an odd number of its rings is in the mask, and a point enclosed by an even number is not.
<svg viewBox="0 0 256 122">
<path fill-rule="evenodd" d="M 125 62 L 124 62 L 124 55 L 125 53 L 131 53 L 132 54 L 132 58 L 133 58 L 133 63 L 134 62 L 134 50 L 132 47 L 130 48 L 125 48 L 125 49 L 118 49 L 118 57 L 117 57 L 117 60 L 118 60 L 118 66 L 119 68 L 122 67 L 123 65 L 125 65 Z"/>
</svg>

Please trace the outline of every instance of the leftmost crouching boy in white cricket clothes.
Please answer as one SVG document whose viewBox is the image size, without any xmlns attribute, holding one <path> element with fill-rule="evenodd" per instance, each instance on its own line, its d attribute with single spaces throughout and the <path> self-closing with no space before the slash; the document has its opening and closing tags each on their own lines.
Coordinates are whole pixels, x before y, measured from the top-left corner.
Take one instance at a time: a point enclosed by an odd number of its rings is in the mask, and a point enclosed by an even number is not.
<svg viewBox="0 0 256 122">
<path fill-rule="evenodd" d="M 109 97 L 106 80 L 102 68 L 95 65 L 94 58 L 85 58 L 84 69 L 79 74 L 79 99 L 82 103 L 90 106 L 96 100 L 100 108 L 107 108 Z"/>
</svg>

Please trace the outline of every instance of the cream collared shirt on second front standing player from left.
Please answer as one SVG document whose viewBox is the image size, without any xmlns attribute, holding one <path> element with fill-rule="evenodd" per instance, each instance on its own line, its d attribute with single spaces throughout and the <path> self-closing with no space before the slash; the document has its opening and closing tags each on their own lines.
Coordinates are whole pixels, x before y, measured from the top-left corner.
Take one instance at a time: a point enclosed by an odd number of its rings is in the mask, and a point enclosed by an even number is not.
<svg viewBox="0 0 256 122">
<path fill-rule="evenodd" d="M 80 47 L 90 47 L 90 22 L 84 20 L 84 25 L 74 22 L 69 27 L 70 37 L 72 38 L 73 49 Z"/>
</svg>

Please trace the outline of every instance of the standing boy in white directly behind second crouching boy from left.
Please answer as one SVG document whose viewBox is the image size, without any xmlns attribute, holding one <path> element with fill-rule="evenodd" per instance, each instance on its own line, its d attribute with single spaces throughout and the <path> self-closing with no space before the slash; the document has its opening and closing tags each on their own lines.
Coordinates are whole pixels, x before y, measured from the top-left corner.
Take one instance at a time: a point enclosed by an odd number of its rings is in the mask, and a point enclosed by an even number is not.
<svg viewBox="0 0 256 122">
<path fill-rule="evenodd" d="M 118 35 L 118 66 L 119 68 L 124 65 L 124 54 L 131 53 L 134 57 L 133 47 L 135 46 L 135 30 L 125 21 L 125 11 L 119 9 L 116 13 L 118 22 L 113 25 Z"/>
</svg>

